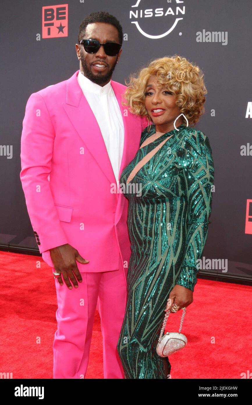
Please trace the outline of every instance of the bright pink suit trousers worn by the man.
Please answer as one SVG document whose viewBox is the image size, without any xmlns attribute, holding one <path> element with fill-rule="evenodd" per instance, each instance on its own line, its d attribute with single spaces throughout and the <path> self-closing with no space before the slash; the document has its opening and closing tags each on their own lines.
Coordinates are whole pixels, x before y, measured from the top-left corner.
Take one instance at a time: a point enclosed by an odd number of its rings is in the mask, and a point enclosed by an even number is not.
<svg viewBox="0 0 252 405">
<path fill-rule="evenodd" d="M 97 347 L 100 356 L 103 352 L 104 378 L 124 378 L 116 349 L 127 298 L 123 271 L 121 265 L 119 271 L 81 273 L 82 283 L 72 290 L 55 279 L 58 309 L 53 378 L 85 378 L 96 307 L 101 318 L 103 341 Z"/>
</svg>

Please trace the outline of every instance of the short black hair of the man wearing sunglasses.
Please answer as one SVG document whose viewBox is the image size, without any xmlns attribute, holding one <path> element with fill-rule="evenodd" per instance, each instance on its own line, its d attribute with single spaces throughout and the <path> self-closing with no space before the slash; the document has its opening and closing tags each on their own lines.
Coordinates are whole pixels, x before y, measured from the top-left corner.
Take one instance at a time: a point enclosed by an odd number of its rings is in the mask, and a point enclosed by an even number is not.
<svg viewBox="0 0 252 405">
<path fill-rule="evenodd" d="M 114 17 L 114 15 L 109 14 L 106 11 L 97 11 L 95 13 L 89 14 L 87 17 L 83 19 L 83 21 L 81 21 L 78 31 L 78 44 L 80 43 L 80 40 L 86 33 L 87 25 L 93 23 L 112 24 L 118 30 L 120 44 L 123 43 L 123 28 L 119 23 L 118 19 Z"/>
</svg>

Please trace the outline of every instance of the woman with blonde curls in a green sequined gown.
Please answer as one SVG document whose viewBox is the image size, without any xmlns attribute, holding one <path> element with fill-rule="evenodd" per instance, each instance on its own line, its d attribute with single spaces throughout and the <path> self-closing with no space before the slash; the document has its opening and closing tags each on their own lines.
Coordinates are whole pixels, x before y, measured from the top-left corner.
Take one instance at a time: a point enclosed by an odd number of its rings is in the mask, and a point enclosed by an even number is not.
<svg viewBox="0 0 252 405">
<path fill-rule="evenodd" d="M 193 302 L 210 222 L 212 149 L 193 128 L 207 91 L 198 66 L 177 55 L 152 61 L 127 84 L 125 105 L 149 125 L 120 178 L 131 257 L 117 350 L 125 378 L 165 379 L 169 359 L 156 353 L 165 311 Z"/>
</svg>

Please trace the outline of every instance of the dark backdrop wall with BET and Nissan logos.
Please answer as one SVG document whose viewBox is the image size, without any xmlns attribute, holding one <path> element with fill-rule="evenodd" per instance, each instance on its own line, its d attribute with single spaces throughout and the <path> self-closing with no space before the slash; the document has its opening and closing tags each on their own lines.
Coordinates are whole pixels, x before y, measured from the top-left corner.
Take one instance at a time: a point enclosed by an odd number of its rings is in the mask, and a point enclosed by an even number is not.
<svg viewBox="0 0 252 405">
<path fill-rule="evenodd" d="M 66 4 L 68 22 L 63 19 L 55 24 L 65 26 L 64 34 L 43 38 L 42 7 L 61 6 L 64 15 Z M 26 102 L 31 93 L 68 79 L 78 70 L 75 43 L 80 22 L 93 11 L 108 11 L 119 19 L 125 34 L 113 80 L 125 83 L 130 72 L 151 59 L 175 53 L 203 70 L 208 94 L 205 114 L 195 128 L 210 139 L 215 166 L 212 223 L 203 256 L 212 262 L 226 260 L 227 271 L 219 264 L 218 269 L 203 269 L 200 274 L 250 283 L 252 156 L 243 156 L 241 147 L 252 145 L 251 7 L 251 0 L 21 0 L 1 4 L 0 249 L 38 252 L 19 178 Z M 222 37 L 214 38 L 213 32 Z M 247 218 L 245 233 L 249 200 L 251 220 Z"/>
</svg>

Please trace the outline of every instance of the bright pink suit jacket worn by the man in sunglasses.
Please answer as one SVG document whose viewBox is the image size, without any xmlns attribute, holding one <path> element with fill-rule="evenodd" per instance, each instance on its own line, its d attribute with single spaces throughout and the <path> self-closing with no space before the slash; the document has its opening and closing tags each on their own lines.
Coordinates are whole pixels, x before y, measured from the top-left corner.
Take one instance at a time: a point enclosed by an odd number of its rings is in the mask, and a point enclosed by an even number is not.
<svg viewBox="0 0 252 405">
<path fill-rule="evenodd" d="M 80 272 L 125 268 L 130 257 L 128 201 L 111 193 L 116 179 L 95 116 L 78 84 L 70 79 L 28 99 L 21 135 L 25 201 L 43 260 L 53 267 L 49 249 L 69 243 L 89 264 Z M 135 156 L 145 118 L 121 104 L 126 86 L 111 81 L 125 128 L 120 175 Z"/>
</svg>

